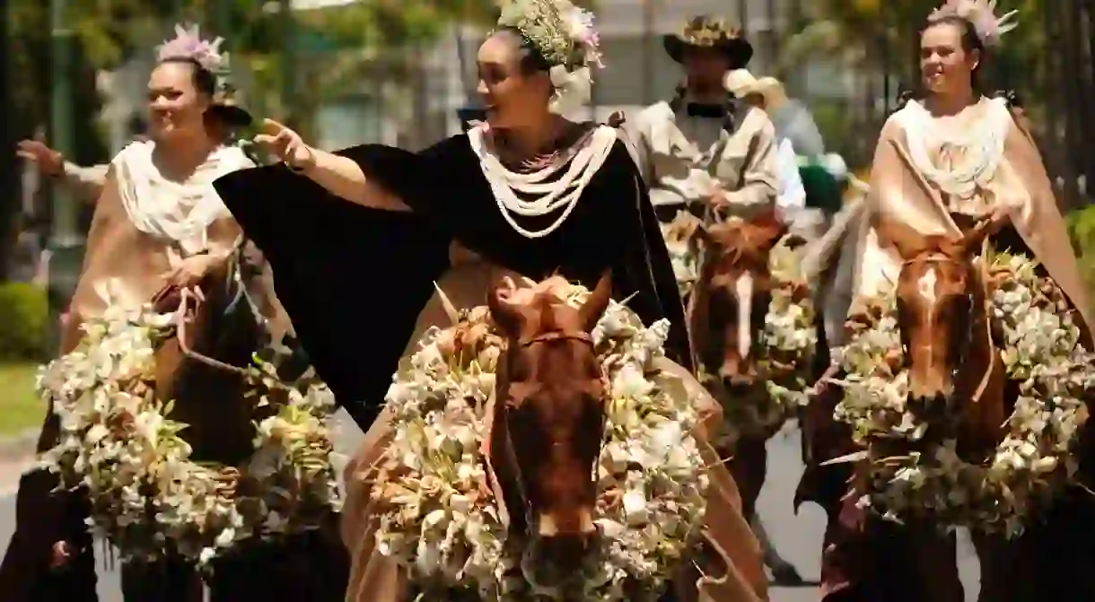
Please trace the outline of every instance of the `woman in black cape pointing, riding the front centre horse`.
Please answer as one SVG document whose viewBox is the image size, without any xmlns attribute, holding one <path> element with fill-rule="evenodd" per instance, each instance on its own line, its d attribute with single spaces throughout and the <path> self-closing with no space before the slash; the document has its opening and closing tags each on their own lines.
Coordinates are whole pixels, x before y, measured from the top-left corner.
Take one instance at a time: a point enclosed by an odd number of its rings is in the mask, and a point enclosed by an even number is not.
<svg viewBox="0 0 1095 602">
<path fill-rule="evenodd" d="M 487 567 L 482 558 L 469 559 L 474 567 L 457 566 L 446 579 L 466 580 L 446 582 L 457 593 L 440 597 L 429 589 L 427 576 L 441 568 L 440 557 L 428 551 L 437 542 L 419 540 L 419 552 L 411 549 L 413 562 L 383 543 L 380 522 L 391 503 L 378 500 L 387 494 L 373 485 L 391 474 L 385 463 L 404 458 L 389 453 L 403 424 L 389 390 L 393 374 L 402 378 L 405 372 L 401 358 L 417 350 L 424 333 L 436 332 L 431 326 L 447 327 L 460 311 L 482 308 L 488 291 L 502 290 L 493 285 L 506 276 L 515 287 L 507 290 L 519 296 L 526 289 L 516 282 L 523 277 L 546 278 L 541 287 L 558 286 L 563 280 L 549 278 L 552 275 L 589 290 L 602 290 L 610 280 L 612 296 L 626 300 L 643 324 L 667 320 L 667 358 L 659 357 L 667 361 L 658 371 L 680 380 L 682 386 L 673 394 L 699 416 L 684 436 L 696 441 L 690 449 L 699 454 L 689 471 L 710 479 L 710 488 L 699 494 L 705 508 L 698 514 L 702 526 L 688 530 L 695 539 L 689 537 L 693 545 L 679 564 L 658 557 L 639 572 L 670 567 L 667 599 L 768 600 L 759 546 L 741 516 L 737 487 L 708 442 L 719 428 L 721 406 L 691 374 L 680 294 L 642 176 L 621 131 L 560 115 L 589 100 L 592 70 L 600 66 L 592 15 L 567 0 L 502 4 L 498 26 L 479 50 L 485 123 L 418 153 L 380 146 L 331 153 L 267 121 L 256 142 L 284 164 L 235 172 L 216 182 L 244 233 L 270 261 L 279 298 L 319 375 L 341 403 L 365 401 L 377 410 L 346 471 L 343 541 L 353 559 L 346 600 L 403 602 L 416 599 L 416 593 L 424 600 L 497 599 L 497 591 L 492 590 L 494 597 L 481 594 L 484 590 L 472 581 L 503 587 L 494 581 L 495 571 L 500 576 L 504 570 L 500 562 Z M 489 452 L 484 453 L 489 465 Z M 411 506 L 406 512 L 417 516 Z M 550 539 L 545 524 L 538 524 L 537 533 Z M 460 529 L 449 539 L 471 540 L 451 544 L 445 554 L 463 557 L 466 546 L 477 545 L 472 542 L 477 536 Z M 622 529 L 626 532 L 627 526 Z M 632 529 L 637 533 L 644 528 Z M 583 534 L 596 536 L 590 530 Z M 611 535 L 597 539 L 598 546 L 612 541 Z M 576 548 L 577 557 L 568 560 L 581 566 L 592 547 Z M 463 563 L 450 558 L 443 564 L 453 562 Z M 550 564 L 521 564 L 523 578 L 516 579 L 523 584 L 517 587 L 557 592 L 606 583 L 584 581 L 584 572 L 556 570 Z M 607 575 L 610 583 L 624 579 L 618 572 Z M 643 582 L 642 576 L 635 577 Z M 656 600 L 662 587 L 612 591 L 596 599 Z"/>
</svg>

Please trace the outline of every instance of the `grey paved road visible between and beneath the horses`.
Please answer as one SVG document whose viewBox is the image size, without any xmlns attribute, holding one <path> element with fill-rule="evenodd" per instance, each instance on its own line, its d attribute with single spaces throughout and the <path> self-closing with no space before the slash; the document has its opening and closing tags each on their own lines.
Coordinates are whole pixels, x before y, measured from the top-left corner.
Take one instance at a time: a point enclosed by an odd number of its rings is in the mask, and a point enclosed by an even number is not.
<svg viewBox="0 0 1095 602">
<path fill-rule="evenodd" d="M 342 453 L 349 453 L 361 432 L 345 415 L 342 417 L 336 442 Z M 791 508 L 795 484 L 802 474 L 799 462 L 798 433 L 780 433 L 769 442 L 769 477 L 761 493 L 759 507 L 769 534 L 781 554 L 798 567 L 806 579 L 816 580 L 820 571 L 819 553 L 825 530 L 823 514 L 814 505 L 803 507 L 799 514 Z M 13 490 L 5 490 L 14 484 L 12 475 L 0 471 L 0 542 L 7 546 L 15 520 Z M 972 546 L 967 537 L 959 539 L 959 571 L 966 583 L 966 600 L 977 600 L 978 565 Z M 102 602 L 122 602 L 117 571 L 100 567 L 99 594 Z M 772 602 L 814 602 L 818 599 L 816 588 L 777 588 L 772 593 Z"/>
</svg>

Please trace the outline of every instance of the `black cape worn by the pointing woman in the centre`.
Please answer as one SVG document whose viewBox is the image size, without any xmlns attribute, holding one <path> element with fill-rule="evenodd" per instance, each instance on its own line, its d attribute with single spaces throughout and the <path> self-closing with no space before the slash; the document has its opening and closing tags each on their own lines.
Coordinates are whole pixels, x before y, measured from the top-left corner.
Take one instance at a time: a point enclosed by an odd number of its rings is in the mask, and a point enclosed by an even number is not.
<svg viewBox="0 0 1095 602">
<path fill-rule="evenodd" d="M 646 324 L 668 319 L 667 355 L 692 368 L 669 255 L 622 141 L 563 225 L 540 239 L 505 221 L 466 135 L 418 153 L 367 144 L 337 154 L 412 211 L 351 204 L 281 164 L 233 172 L 214 186 L 270 262 L 278 299 L 318 374 L 362 428 L 449 267 L 453 240 L 533 279 L 558 271 L 591 288 L 610 268 L 613 296 L 634 294 L 627 305 Z M 535 229 L 555 217 L 518 219 Z"/>
</svg>

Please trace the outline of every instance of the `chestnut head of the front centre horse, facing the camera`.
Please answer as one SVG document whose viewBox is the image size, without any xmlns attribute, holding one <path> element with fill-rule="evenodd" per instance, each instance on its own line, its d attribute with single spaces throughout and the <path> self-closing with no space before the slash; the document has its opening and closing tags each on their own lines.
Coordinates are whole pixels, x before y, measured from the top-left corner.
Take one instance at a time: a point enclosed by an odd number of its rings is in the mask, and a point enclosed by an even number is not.
<svg viewBox="0 0 1095 602">
<path fill-rule="evenodd" d="M 521 567 L 530 583 L 562 586 L 579 568 L 597 529 L 596 463 L 606 407 L 590 333 L 609 305 L 603 275 L 580 308 L 552 286 L 499 287 L 488 297 L 506 339 L 497 368 L 492 449 L 515 531 L 528 537 Z M 523 298 L 522 298 L 523 296 Z"/>
</svg>

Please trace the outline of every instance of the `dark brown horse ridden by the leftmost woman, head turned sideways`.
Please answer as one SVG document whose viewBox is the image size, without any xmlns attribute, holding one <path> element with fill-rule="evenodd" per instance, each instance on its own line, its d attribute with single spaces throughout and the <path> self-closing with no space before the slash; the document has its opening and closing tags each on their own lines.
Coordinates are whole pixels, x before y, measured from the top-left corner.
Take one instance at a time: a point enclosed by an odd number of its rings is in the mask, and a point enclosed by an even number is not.
<svg viewBox="0 0 1095 602">
<path fill-rule="evenodd" d="M 207 275 L 196 291 L 166 288 L 153 300 L 157 311 L 174 312 L 176 326 L 155 350 L 155 392 L 173 400 L 170 418 L 185 422 L 181 436 L 198 462 L 224 465 L 223 486 L 239 483 L 252 453 L 255 421 L 270 415 L 284 392 L 272 390 L 267 407 L 247 396 L 252 355 L 262 351 L 279 375 L 293 381 L 307 369 L 291 345 L 291 325 L 274 294 L 268 266 L 250 244 Z M 345 587 L 345 552 L 334 532 L 297 536 L 275 544 L 244 543 L 214 563 L 207 581 L 214 601 L 260 595 L 270 600 L 327 600 Z M 311 575 L 309 575 L 311 574 Z M 178 559 L 123 567 L 127 600 L 198 601 L 201 580 Z"/>
</svg>

